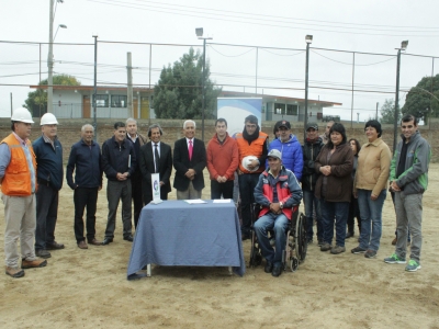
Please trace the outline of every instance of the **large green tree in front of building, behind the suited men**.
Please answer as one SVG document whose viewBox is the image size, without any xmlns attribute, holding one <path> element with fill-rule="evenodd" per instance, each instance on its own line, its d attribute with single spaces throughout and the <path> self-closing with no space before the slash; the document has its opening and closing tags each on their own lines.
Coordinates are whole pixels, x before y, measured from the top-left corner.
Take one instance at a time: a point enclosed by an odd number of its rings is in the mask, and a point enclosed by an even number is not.
<svg viewBox="0 0 439 329">
<path fill-rule="evenodd" d="M 216 98 L 221 88 L 210 79 L 205 65 L 205 118 L 216 117 Z M 154 111 L 158 118 L 201 118 L 203 57 L 191 47 L 173 66 L 164 67 L 154 87 Z"/>
</svg>

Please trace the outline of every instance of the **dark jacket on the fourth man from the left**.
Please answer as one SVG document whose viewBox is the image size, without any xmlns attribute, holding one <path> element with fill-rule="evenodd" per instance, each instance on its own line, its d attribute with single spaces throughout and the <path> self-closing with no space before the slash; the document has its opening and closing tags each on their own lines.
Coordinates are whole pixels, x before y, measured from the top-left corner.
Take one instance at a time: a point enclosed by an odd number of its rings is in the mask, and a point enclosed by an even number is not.
<svg viewBox="0 0 439 329">
<path fill-rule="evenodd" d="M 128 167 L 131 156 L 131 167 Z M 110 181 L 117 181 L 117 172 L 128 172 L 131 178 L 136 170 L 136 152 L 133 143 L 124 139 L 120 145 L 114 136 L 102 145 L 102 169 Z"/>
</svg>

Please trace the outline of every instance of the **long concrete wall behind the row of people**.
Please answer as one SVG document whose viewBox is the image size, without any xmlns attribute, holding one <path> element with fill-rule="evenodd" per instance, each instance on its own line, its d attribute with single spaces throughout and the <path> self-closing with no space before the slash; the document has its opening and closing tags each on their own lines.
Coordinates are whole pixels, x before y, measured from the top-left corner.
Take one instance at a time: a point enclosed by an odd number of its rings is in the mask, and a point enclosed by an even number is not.
<svg viewBox="0 0 439 329">
<path fill-rule="evenodd" d="M 34 140 L 41 135 L 40 128 L 40 120 L 34 118 L 35 124 L 33 125 L 31 139 Z M 58 137 L 60 143 L 64 146 L 64 160 L 67 161 L 70 146 L 80 139 L 80 131 L 81 126 L 86 123 L 92 124 L 90 120 L 63 120 L 59 118 L 58 126 Z M 102 144 L 108 138 L 113 136 L 113 125 L 116 121 L 122 120 L 108 120 L 108 118 L 99 118 L 98 120 L 98 141 Z M 153 123 L 159 123 L 164 128 L 162 141 L 171 145 L 173 147 L 173 143 L 183 137 L 182 126 L 184 120 L 138 120 L 137 124 L 139 126 L 140 134 L 147 135 L 148 126 Z M 201 139 L 201 121 L 196 122 L 196 137 Z M 205 144 L 207 145 L 209 140 L 215 134 L 214 128 L 215 121 L 206 120 L 205 121 Z M 270 137 L 270 140 L 273 138 L 273 126 L 275 122 L 263 122 L 262 123 L 262 132 L 267 133 Z M 364 137 L 364 125 L 363 124 L 351 124 L 342 123 L 347 128 L 348 138 L 357 138 L 360 140 L 360 144 L 367 141 Z M 319 124 L 320 133 L 324 132 L 325 125 Z M 244 124 L 243 124 L 244 128 Z M 439 161 L 439 122 L 431 122 L 429 126 L 419 126 L 420 133 L 426 138 L 430 145 L 432 150 L 432 161 Z M 297 139 L 303 144 L 304 135 L 303 135 L 303 123 L 293 122 L 292 123 L 293 134 L 297 136 Z M 9 118 L 0 118 L 0 138 L 4 138 L 11 132 L 11 122 Z M 393 148 L 393 125 L 383 125 L 383 139 L 389 145 L 389 147 Z"/>
</svg>

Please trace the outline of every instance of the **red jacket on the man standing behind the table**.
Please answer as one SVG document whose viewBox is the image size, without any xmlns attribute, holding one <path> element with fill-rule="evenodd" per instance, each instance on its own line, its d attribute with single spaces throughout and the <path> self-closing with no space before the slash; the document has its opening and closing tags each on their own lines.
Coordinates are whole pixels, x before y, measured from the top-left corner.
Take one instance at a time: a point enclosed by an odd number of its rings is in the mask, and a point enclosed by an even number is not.
<svg viewBox="0 0 439 329">
<path fill-rule="evenodd" d="M 238 161 L 239 152 L 236 140 L 227 134 L 222 145 L 215 134 L 207 145 L 207 170 L 211 180 L 216 181 L 218 175 L 224 175 L 228 181 L 233 181 Z"/>
</svg>

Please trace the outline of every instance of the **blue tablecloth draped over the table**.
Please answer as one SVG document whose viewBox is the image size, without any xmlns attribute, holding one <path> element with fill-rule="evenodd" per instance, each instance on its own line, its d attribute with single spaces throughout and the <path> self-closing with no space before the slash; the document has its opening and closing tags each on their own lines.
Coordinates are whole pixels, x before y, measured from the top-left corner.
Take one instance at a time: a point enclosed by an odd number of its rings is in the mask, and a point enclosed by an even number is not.
<svg viewBox="0 0 439 329">
<path fill-rule="evenodd" d="M 165 201 L 142 209 L 131 251 L 127 279 L 146 264 L 232 266 L 246 271 L 235 204 Z"/>
</svg>

